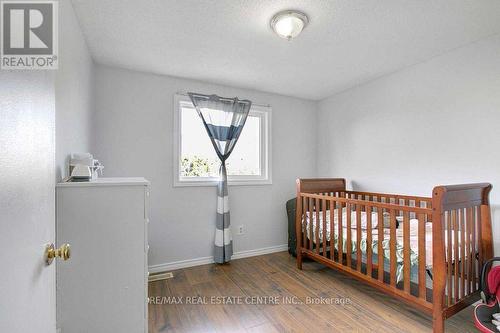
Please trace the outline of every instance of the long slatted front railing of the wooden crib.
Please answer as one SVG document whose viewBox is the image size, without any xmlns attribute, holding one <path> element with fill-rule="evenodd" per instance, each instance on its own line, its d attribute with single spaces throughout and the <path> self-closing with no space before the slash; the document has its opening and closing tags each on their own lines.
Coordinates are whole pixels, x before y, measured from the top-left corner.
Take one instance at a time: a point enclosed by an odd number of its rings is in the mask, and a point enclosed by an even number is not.
<svg viewBox="0 0 500 333">
<path fill-rule="evenodd" d="M 348 198 L 350 196 L 351 198 Z M 427 198 L 426 198 L 427 199 Z M 354 199 L 348 192 L 334 192 L 327 194 L 302 193 L 298 202 L 298 215 L 301 215 L 301 229 L 298 233 L 298 242 L 302 242 L 302 251 L 307 254 L 321 256 L 337 265 L 355 272 L 357 277 L 376 281 L 377 284 L 388 286 L 393 291 L 404 297 L 419 298 L 419 303 L 426 302 L 426 247 L 425 223 L 430 220 L 432 210 L 425 207 L 405 206 L 396 204 L 395 201 L 382 199 L 380 201 L 365 201 Z M 343 212 L 346 214 L 343 214 Z M 362 226 L 362 212 L 366 216 L 366 226 Z M 329 214 L 329 234 L 327 239 L 327 214 Z M 334 215 L 337 214 L 337 217 Z M 377 226 L 372 224 L 373 216 L 377 216 Z M 410 248 L 410 215 L 418 218 L 418 279 L 421 288 L 411 293 L 411 248 Z M 355 216 L 356 223 L 351 219 Z M 309 217 L 309 218 L 308 218 Z M 403 242 L 397 244 L 397 219 L 401 217 Z M 316 221 L 313 225 L 313 220 Z M 335 225 L 334 221 L 337 221 Z M 389 228 L 384 227 L 389 220 Z M 320 225 L 321 224 L 321 225 Z M 349 227 L 351 226 L 351 227 Z M 345 232 L 344 232 L 345 228 Z M 363 229 L 363 230 L 362 230 Z M 320 232 L 322 230 L 322 232 Z M 387 234 L 386 230 L 389 230 Z M 353 236 L 355 231 L 355 236 Z M 374 253 L 372 243 L 376 231 L 377 251 Z M 366 253 L 361 249 L 362 234 L 366 233 Z M 344 240 L 345 235 L 345 240 Z M 354 238 L 355 237 L 355 238 Z M 299 240 L 300 239 L 300 240 Z M 354 241 L 354 243 L 353 243 Z M 345 244 L 344 244 L 345 242 Z M 355 244 L 351 250 L 351 244 Z M 385 246 L 388 244 L 389 246 Z M 403 250 L 403 281 L 397 284 L 397 245 L 402 245 Z M 344 251 L 345 249 L 345 251 Z M 385 252 L 389 252 L 390 269 L 384 270 Z M 353 253 L 351 253 L 353 252 Z M 400 251 L 401 252 L 401 251 Z M 363 259 L 363 256 L 365 258 Z"/>
</svg>

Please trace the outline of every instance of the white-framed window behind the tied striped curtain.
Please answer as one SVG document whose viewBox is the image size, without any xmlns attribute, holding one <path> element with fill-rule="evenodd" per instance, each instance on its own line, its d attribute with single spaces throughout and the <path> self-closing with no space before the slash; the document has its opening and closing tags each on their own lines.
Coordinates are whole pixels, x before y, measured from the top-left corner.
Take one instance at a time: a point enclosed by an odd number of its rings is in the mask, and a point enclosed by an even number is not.
<svg viewBox="0 0 500 333">
<path fill-rule="evenodd" d="M 174 98 L 174 186 L 216 185 L 220 161 L 188 96 Z M 252 105 L 226 161 L 229 185 L 271 184 L 271 107 Z"/>
</svg>

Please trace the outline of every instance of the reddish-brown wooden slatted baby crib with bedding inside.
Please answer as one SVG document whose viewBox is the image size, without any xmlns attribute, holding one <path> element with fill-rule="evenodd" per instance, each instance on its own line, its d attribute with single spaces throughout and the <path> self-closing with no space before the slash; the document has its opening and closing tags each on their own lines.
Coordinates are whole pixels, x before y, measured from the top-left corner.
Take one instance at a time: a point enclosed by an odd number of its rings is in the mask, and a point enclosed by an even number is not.
<svg viewBox="0 0 500 333">
<path fill-rule="evenodd" d="M 434 332 L 443 332 L 446 318 L 480 298 L 480 269 L 493 256 L 490 190 L 438 186 L 419 197 L 298 179 L 297 267 L 307 257 L 343 271 L 432 314 Z"/>
</svg>

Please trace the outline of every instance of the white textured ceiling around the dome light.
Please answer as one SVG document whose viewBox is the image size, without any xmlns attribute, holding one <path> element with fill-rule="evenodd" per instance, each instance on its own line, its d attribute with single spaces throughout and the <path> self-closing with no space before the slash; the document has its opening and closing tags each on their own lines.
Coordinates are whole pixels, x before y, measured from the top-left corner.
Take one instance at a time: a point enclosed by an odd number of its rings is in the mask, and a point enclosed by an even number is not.
<svg viewBox="0 0 500 333">
<path fill-rule="evenodd" d="M 100 64 L 322 99 L 500 33 L 499 0 L 73 0 Z M 288 42 L 269 20 L 299 9 Z"/>
</svg>

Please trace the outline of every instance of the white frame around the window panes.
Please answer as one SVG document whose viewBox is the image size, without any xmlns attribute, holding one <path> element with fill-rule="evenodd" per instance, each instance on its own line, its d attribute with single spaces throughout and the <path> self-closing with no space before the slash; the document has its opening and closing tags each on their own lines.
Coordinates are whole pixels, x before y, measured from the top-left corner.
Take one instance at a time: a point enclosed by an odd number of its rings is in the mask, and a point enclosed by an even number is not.
<svg viewBox="0 0 500 333">
<path fill-rule="evenodd" d="M 184 187 L 184 186 L 216 186 L 219 177 L 181 177 L 181 153 L 182 153 L 182 138 L 181 138 L 181 128 L 182 128 L 182 117 L 181 111 L 182 107 L 190 107 L 194 109 L 194 106 L 189 99 L 189 96 L 176 94 L 174 96 L 174 187 Z M 250 115 L 260 117 L 260 170 L 261 175 L 258 176 L 239 176 L 239 175 L 228 175 L 228 185 L 270 185 L 272 184 L 272 173 L 271 173 L 271 106 L 262 106 L 252 104 L 250 109 Z M 201 120 L 200 120 L 201 121 Z M 208 134 L 207 134 L 208 137 Z M 237 143 L 236 143 L 237 144 Z"/>
</svg>

